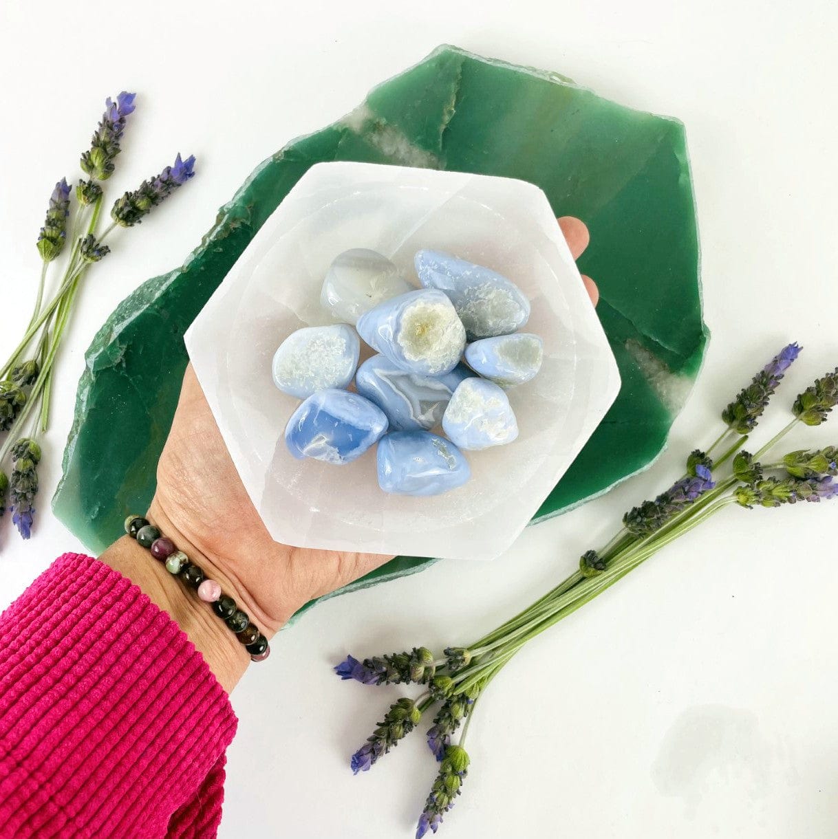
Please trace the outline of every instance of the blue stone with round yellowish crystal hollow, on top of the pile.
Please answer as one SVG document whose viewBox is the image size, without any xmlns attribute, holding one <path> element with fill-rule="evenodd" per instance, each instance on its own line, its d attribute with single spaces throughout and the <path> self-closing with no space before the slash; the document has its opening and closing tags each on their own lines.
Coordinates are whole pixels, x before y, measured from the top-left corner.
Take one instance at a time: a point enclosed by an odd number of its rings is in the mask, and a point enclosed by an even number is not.
<svg viewBox="0 0 838 839">
<path fill-rule="evenodd" d="M 361 315 L 359 335 L 402 370 L 440 376 L 457 366 L 465 330 L 446 294 L 418 289 Z"/>
</svg>

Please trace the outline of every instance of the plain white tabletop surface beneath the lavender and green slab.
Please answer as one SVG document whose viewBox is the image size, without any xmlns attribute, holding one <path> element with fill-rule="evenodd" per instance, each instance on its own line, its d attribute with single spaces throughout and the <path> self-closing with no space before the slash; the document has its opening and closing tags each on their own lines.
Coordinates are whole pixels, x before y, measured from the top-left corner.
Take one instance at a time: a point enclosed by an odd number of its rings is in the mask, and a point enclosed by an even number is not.
<svg viewBox="0 0 838 839">
<path fill-rule="evenodd" d="M 286 140 L 442 42 L 558 70 L 687 125 L 713 341 L 670 453 L 527 530 L 493 564 L 437 564 L 338 598 L 278 638 L 233 694 L 223 837 L 410 836 L 436 771 L 422 737 L 353 778 L 348 755 L 399 691 L 341 683 L 331 665 L 348 650 L 479 636 L 663 488 L 776 348 L 806 347 L 778 409 L 838 361 L 834 4 L 400 6 L 6 0 L 0 12 L 0 355 L 34 295 L 46 198 L 61 175 L 76 177 L 105 96 L 139 91 L 114 192 L 178 150 L 197 155 L 199 173 L 90 274 L 58 367 L 36 538 L 22 545 L 0 529 L 3 604 L 80 547 L 46 500 L 93 331 L 139 282 L 178 264 Z M 778 410 L 763 430 L 784 421 Z M 836 423 L 801 445 L 835 442 Z M 480 703 L 469 779 L 443 835 L 835 836 L 836 525 L 827 505 L 729 510 L 528 646 Z"/>
</svg>

